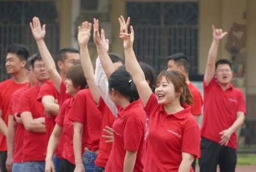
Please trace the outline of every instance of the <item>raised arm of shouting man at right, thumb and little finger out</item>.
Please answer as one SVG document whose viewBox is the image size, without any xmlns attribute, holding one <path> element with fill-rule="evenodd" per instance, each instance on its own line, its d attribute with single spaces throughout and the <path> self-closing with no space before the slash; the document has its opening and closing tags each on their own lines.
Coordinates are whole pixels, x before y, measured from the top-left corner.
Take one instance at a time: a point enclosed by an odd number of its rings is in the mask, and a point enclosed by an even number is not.
<svg viewBox="0 0 256 172">
<path fill-rule="evenodd" d="M 215 62 L 218 54 L 220 41 L 225 35 L 228 34 L 227 32 L 223 33 L 222 29 L 216 29 L 214 25 L 212 26 L 212 28 L 213 28 L 213 42 L 212 42 L 212 45 L 210 45 L 207 64 L 206 64 L 205 73 L 204 73 L 204 81 L 206 85 L 209 84 L 210 80 L 213 79 L 215 74 Z"/>
</svg>

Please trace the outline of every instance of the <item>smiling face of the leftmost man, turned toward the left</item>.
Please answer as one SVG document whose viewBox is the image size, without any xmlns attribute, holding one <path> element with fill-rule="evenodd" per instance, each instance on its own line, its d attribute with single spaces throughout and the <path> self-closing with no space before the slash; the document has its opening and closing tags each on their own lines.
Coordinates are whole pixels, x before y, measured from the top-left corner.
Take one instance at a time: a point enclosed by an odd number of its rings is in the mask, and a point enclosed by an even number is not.
<svg viewBox="0 0 256 172">
<path fill-rule="evenodd" d="M 21 60 L 17 54 L 8 53 L 5 59 L 5 67 L 8 74 L 19 73 L 26 65 L 25 60 Z"/>
</svg>

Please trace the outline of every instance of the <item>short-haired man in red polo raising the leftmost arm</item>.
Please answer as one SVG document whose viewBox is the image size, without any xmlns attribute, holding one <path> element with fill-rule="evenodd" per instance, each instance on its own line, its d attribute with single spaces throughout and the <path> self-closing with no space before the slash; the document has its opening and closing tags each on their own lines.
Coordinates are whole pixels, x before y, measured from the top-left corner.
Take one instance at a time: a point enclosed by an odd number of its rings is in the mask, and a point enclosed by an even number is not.
<svg viewBox="0 0 256 172">
<path fill-rule="evenodd" d="M 38 100 L 42 102 L 44 111 L 46 112 L 46 129 L 47 138 L 49 139 L 53 128 L 55 126 L 55 118 L 58 114 L 59 107 L 63 102 L 71 98 L 66 94 L 66 87 L 64 81 L 66 80 L 67 70 L 80 59 L 79 51 L 77 49 L 66 48 L 59 51 L 57 65 L 61 70 L 59 74 L 55 67 L 54 59 L 52 58 L 47 46 L 44 42 L 46 35 L 46 25 L 41 27 L 40 20 L 35 17 L 30 24 L 33 36 L 36 40 L 38 50 L 42 56 L 44 63 L 46 64 L 46 70 L 50 73 L 51 80 L 46 82 L 40 88 L 38 94 Z M 55 168 L 58 170 L 59 163 L 61 163 L 63 152 L 64 137 L 61 137 L 56 155 L 54 155 Z"/>
</svg>

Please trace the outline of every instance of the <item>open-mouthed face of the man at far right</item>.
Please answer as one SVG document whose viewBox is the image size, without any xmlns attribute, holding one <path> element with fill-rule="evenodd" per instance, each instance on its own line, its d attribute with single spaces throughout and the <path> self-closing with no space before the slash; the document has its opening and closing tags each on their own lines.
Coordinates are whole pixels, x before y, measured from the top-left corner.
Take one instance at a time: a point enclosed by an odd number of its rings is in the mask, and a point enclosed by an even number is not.
<svg viewBox="0 0 256 172">
<path fill-rule="evenodd" d="M 215 71 L 215 78 L 221 85 L 227 85 L 233 77 L 232 70 L 228 64 L 219 64 Z"/>
</svg>

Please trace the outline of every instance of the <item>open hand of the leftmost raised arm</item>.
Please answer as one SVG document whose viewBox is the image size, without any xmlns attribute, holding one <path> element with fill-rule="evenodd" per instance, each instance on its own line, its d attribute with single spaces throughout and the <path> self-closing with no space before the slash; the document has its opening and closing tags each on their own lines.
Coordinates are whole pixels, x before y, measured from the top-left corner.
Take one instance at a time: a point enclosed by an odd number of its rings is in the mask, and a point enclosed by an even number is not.
<svg viewBox="0 0 256 172">
<path fill-rule="evenodd" d="M 33 21 L 29 23 L 29 26 L 36 41 L 44 39 L 46 36 L 46 25 L 44 24 L 41 27 L 40 20 L 37 17 L 33 18 Z"/>
</svg>

